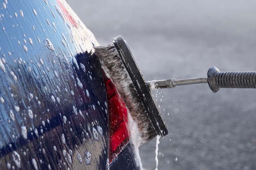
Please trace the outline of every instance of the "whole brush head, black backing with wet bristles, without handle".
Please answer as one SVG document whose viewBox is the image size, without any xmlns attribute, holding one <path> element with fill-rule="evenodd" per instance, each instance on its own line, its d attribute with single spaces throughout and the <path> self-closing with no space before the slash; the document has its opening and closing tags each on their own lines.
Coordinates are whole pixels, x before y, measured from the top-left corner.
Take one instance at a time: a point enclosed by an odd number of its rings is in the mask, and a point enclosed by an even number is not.
<svg viewBox="0 0 256 170">
<path fill-rule="evenodd" d="M 94 49 L 104 71 L 115 84 L 132 119 L 137 123 L 141 144 L 157 134 L 168 134 L 162 115 L 126 41 L 118 36 L 113 44 Z"/>
</svg>

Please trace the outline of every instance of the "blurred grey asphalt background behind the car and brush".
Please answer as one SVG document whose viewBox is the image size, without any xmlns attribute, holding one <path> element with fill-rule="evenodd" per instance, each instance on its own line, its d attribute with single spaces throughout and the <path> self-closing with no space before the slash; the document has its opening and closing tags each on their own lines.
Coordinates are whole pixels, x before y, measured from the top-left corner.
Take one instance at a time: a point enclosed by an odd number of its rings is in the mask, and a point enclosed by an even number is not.
<svg viewBox="0 0 256 170">
<path fill-rule="evenodd" d="M 254 0 L 67 0 L 101 45 L 121 35 L 144 78 L 193 78 L 220 71 L 256 71 Z M 256 89 L 207 84 L 153 92 L 168 126 L 159 170 L 255 170 Z M 142 145 L 155 169 L 155 139 Z"/>
</svg>

